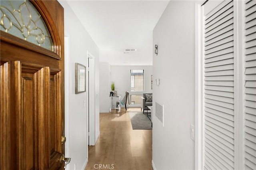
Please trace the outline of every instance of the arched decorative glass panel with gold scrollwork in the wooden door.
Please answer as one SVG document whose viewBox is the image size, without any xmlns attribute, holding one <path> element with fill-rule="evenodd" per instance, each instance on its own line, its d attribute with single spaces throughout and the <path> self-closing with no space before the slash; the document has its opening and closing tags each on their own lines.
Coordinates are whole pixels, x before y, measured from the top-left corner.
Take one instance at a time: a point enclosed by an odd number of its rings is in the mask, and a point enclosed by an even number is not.
<svg viewBox="0 0 256 170">
<path fill-rule="evenodd" d="M 1 0 L 0 18 L 0 30 L 53 51 L 48 28 L 28 0 Z"/>
</svg>

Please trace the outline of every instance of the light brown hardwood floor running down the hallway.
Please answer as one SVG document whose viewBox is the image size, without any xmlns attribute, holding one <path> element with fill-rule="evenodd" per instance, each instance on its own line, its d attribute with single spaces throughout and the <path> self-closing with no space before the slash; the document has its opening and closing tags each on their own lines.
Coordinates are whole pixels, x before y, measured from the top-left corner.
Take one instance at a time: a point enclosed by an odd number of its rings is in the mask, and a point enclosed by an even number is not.
<svg viewBox="0 0 256 170">
<path fill-rule="evenodd" d="M 85 170 L 152 170 L 152 130 L 132 130 L 130 111 L 100 113 L 100 137 L 89 146 Z"/>
</svg>

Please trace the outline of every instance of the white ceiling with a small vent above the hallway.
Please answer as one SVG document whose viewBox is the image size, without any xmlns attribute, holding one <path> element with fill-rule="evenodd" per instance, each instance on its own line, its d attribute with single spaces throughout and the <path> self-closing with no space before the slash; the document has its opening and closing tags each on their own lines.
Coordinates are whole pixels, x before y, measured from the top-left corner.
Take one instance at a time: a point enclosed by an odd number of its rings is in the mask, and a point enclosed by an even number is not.
<svg viewBox="0 0 256 170">
<path fill-rule="evenodd" d="M 68 0 L 100 49 L 100 62 L 152 65 L 152 31 L 169 0 Z M 124 53 L 125 49 L 137 49 Z"/>
</svg>

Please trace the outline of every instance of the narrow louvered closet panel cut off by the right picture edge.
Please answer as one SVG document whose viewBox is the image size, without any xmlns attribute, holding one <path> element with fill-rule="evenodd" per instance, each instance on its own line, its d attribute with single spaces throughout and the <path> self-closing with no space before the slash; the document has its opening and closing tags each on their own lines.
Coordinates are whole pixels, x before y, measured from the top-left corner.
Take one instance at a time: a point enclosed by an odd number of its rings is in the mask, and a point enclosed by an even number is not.
<svg viewBox="0 0 256 170">
<path fill-rule="evenodd" d="M 256 0 L 245 2 L 245 168 L 256 170 Z"/>
</svg>

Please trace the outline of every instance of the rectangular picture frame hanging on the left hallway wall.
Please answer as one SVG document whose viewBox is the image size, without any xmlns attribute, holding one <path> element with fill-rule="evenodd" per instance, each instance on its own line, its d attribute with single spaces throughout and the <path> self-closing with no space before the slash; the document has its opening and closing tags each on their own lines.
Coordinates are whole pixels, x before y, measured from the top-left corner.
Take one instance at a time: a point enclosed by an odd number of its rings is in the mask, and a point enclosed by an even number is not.
<svg viewBox="0 0 256 170">
<path fill-rule="evenodd" d="M 86 66 L 75 63 L 75 94 L 86 92 Z"/>
</svg>

